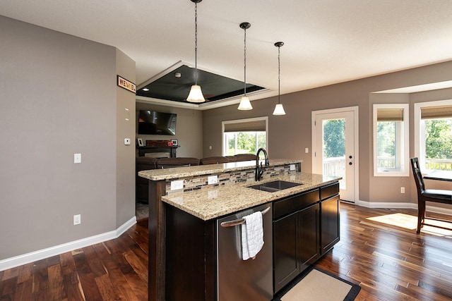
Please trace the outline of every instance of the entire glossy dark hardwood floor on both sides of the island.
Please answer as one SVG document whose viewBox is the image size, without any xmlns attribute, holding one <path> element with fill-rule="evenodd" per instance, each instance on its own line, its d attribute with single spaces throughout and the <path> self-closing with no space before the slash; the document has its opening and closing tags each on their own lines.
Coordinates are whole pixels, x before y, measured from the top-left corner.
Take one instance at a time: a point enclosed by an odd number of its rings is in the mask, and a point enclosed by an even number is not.
<svg viewBox="0 0 452 301">
<path fill-rule="evenodd" d="M 361 285 L 356 300 L 452 300 L 452 231 L 416 235 L 409 228 L 415 216 L 342 204 L 341 240 L 316 266 Z M 374 217 L 400 226 L 368 219 Z M 148 223 L 115 240 L 0 271 L 0 280 L 1 301 L 147 300 Z"/>
</svg>

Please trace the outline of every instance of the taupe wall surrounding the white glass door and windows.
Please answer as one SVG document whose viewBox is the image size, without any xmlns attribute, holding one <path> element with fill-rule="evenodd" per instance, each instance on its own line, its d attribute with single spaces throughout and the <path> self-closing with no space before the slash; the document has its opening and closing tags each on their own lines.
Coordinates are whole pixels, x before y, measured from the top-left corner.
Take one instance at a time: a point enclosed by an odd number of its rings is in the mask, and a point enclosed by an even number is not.
<svg viewBox="0 0 452 301">
<path fill-rule="evenodd" d="M 438 63 L 337 85 L 319 87 L 281 96 L 285 116 L 273 116 L 277 97 L 251 102 L 254 109 L 238 111 L 237 105 L 203 112 L 203 154 L 221 155 L 221 121 L 268 116 L 268 153 L 270 158 L 302 159 L 302 171 L 312 170 L 311 111 L 359 106 L 359 199 L 365 202 L 414 202 L 412 177 L 374 177 L 372 164 L 372 104 L 382 102 L 410 103 L 410 156 L 414 155 L 412 128 L 413 102 L 452 99 L 451 90 L 444 92 L 391 96 L 371 96 L 371 92 L 452 80 L 452 62 Z M 284 85 L 284 82 L 281 82 Z M 418 93 L 416 93 L 418 94 Z M 213 146 L 209 150 L 209 145 Z M 309 154 L 304 148 L 309 147 Z M 400 186 L 407 193 L 400 194 Z M 381 189 L 384 188 L 384 189 Z"/>
</svg>

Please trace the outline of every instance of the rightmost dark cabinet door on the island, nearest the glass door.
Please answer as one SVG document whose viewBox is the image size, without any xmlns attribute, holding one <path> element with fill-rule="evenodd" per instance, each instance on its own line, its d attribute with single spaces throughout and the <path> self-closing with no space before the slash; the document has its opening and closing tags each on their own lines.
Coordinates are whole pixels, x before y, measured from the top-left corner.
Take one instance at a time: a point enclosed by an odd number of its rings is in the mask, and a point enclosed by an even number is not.
<svg viewBox="0 0 452 301">
<path fill-rule="evenodd" d="M 320 202 L 321 210 L 321 254 L 330 250 L 340 238 L 340 202 L 339 196 Z"/>
</svg>

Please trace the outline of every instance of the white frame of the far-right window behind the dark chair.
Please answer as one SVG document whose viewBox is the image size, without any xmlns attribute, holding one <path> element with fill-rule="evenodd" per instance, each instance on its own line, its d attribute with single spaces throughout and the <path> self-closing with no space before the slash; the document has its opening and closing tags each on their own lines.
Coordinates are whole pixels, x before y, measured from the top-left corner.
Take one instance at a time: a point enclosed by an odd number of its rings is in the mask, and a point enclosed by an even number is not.
<svg viewBox="0 0 452 301">
<path fill-rule="evenodd" d="M 425 169 L 425 139 L 421 140 L 421 135 L 425 137 L 424 128 L 421 128 L 421 109 L 429 106 L 452 106 L 452 99 L 438 100 L 434 102 L 417 102 L 414 109 L 414 132 L 415 132 L 415 156 L 419 159 L 422 173 L 429 173 L 433 169 Z"/>
</svg>

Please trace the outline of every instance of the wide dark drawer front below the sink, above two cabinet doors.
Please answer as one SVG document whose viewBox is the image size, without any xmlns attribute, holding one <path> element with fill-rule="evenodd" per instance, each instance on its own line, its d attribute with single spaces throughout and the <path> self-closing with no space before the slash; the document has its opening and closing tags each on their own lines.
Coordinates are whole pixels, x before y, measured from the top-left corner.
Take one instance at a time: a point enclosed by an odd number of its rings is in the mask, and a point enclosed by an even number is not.
<svg viewBox="0 0 452 301">
<path fill-rule="evenodd" d="M 319 202 L 319 189 L 281 199 L 273 203 L 273 219 L 279 219 L 281 216 L 291 214 L 316 202 Z"/>
</svg>

